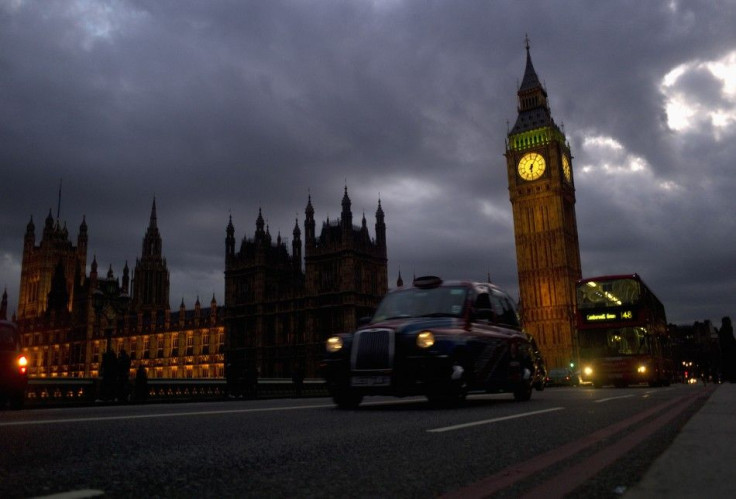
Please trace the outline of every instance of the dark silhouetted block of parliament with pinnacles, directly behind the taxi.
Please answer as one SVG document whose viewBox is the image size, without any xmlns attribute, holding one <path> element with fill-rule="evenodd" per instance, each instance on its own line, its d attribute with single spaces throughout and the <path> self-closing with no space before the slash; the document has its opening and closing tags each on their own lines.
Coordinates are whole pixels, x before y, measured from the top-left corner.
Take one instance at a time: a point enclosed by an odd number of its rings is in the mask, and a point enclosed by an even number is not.
<svg viewBox="0 0 736 499">
<path fill-rule="evenodd" d="M 388 289 L 386 224 L 381 202 L 371 239 L 365 215 L 353 225 L 347 187 L 341 217 L 316 232 L 309 196 L 302 231 L 294 225 L 291 253 L 272 240 L 261 211 L 253 238 L 235 250 L 230 219 L 225 239 L 225 325 L 228 374 L 246 377 L 318 375 L 324 340 L 356 327 Z M 303 267 L 302 267 L 303 264 Z"/>
</svg>

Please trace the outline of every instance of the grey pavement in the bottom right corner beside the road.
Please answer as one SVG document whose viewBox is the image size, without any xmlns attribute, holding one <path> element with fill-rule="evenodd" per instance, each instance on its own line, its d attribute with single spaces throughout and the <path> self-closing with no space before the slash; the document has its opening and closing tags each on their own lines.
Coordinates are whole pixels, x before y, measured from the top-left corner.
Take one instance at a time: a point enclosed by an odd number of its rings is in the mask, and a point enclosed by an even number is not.
<svg viewBox="0 0 736 499">
<path fill-rule="evenodd" d="M 736 497 L 736 384 L 718 385 L 627 499 Z"/>
</svg>

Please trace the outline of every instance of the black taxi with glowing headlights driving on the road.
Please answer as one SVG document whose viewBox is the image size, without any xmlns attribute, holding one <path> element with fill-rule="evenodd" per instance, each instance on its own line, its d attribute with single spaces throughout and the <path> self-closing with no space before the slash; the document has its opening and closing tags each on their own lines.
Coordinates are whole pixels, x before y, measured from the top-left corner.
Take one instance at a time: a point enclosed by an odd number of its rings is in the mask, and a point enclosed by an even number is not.
<svg viewBox="0 0 736 499">
<path fill-rule="evenodd" d="M 328 338 L 326 350 L 322 374 L 340 408 L 366 395 L 425 395 L 440 405 L 468 392 L 529 400 L 537 365 L 508 294 L 435 276 L 390 291 L 366 324 Z"/>
</svg>

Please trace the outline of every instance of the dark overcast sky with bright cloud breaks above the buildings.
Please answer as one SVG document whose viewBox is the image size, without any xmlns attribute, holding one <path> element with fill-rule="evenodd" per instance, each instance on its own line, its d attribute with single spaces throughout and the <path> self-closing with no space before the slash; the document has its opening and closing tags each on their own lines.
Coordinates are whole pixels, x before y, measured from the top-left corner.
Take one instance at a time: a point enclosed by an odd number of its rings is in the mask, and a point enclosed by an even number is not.
<svg viewBox="0 0 736 499">
<path fill-rule="evenodd" d="M 570 142 L 583 276 L 638 272 L 678 324 L 736 315 L 736 2 L 0 0 L 0 286 L 23 236 L 140 257 L 155 197 L 173 308 L 224 303 L 225 227 L 289 242 L 311 194 L 389 282 L 518 296 L 503 153 L 528 34 Z M 510 125 L 509 125 L 510 124 Z M 289 245 L 290 247 L 290 245 Z"/>
</svg>

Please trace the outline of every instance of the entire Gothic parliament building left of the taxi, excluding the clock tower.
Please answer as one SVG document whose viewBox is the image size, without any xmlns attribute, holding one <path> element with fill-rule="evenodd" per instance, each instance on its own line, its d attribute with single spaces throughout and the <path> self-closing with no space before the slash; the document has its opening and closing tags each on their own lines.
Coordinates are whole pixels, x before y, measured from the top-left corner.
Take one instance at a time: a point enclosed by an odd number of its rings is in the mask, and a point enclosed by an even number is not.
<svg viewBox="0 0 736 499">
<path fill-rule="evenodd" d="M 387 290 L 386 226 L 380 200 L 376 235 L 365 216 L 353 225 L 347 187 L 341 218 L 316 232 L 311 196 L 298 223 L 291 253 L 274 242 L 259 210 L 253 238 L 236 250 L 230 218 L 225 238 L 225 304 L 209 308 L 197 298 L 169 306 L 169 270 L 162 252 L 153 201 L 140 258 L 132 275 L 112 267 L 87 274 L 88 227 L 83 219 L 76 245 L 66 224 L 51 212 L 36 244 L 31 218 L 26 227 L 18 310 L 32 377 L 97 377 L 109 349 L 131 358 L 131 375 L 143 365 L 149 377 L 223 378 L 226 357 L 262 377 L 284 377 L 300 369 L 317 376 L 324 339 L 354 327 Z M 302 258 L 302 255 L 304 257 Z M 7 295 L 3 297 L 7 310 Z M 7 313 L 7 312 L 6 312 Z M 226 355 L 228 352 L 228 355 Z"/>
</svg>

